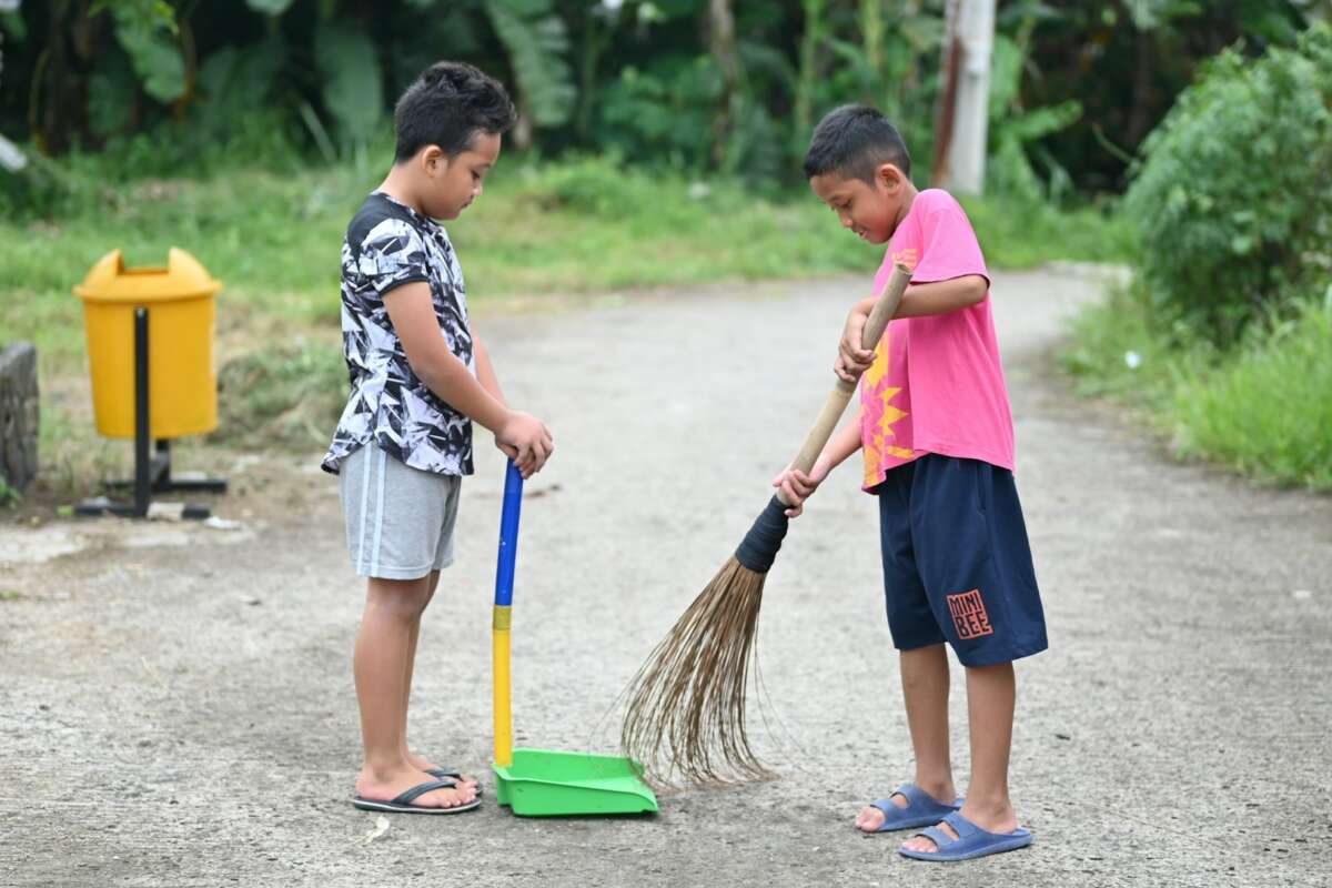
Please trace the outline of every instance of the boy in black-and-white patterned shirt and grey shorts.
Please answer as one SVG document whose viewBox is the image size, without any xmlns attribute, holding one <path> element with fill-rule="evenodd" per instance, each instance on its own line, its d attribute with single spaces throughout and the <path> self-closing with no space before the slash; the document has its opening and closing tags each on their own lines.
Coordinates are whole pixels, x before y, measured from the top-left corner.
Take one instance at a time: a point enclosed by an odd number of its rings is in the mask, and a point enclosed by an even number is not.
<svg viewBox="0 0 1332 888">
<path fill-rule="evenodd" d="M 342 347 L 352 391 L 322 467 L 340 475 L 352 563 L 368 578 L 353 668 L 364 760 L 353 804 L 454 813 L 480 804 L 477 781 L 414 755 L 408 699 L 421 614 L 453 560 L 458 487 L 472 469 L 472 423 L 530 477 L 550 431 L 509 409 L 468 320 L 462 269 L 434 220 L 481 194 L 514 122 L 503 87 L 441 61 L 394 109 L 397 150 L 342 244 Z"/>
</svg>

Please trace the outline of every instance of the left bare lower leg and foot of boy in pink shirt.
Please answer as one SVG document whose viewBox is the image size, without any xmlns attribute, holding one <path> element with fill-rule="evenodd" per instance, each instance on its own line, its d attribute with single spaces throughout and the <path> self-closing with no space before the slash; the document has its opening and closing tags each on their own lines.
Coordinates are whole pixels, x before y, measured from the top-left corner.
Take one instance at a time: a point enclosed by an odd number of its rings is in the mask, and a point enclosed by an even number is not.
<svg viewBox="0 0 1332 888">
<path fill-rule="evenodd" d="M 943 804 L 958 797 L 952 784 L 948 748 L 948 654 L 943 644 L 900 651 L 902 698 L 906 702 L 911 748 L 915 751 L 915 784 Z M 899 808 L 907 799 L 890 796 Z M 855 825 L 875 832 L 883 825 L 883 812 L 874 805 L 860 809 Z"/>
</svg>

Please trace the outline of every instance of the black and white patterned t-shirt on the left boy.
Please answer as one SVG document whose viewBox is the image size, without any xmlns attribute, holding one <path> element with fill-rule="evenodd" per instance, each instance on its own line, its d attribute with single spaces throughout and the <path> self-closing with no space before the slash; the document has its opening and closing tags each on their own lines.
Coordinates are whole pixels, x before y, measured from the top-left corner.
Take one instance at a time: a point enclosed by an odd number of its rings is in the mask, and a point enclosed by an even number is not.
<svg viewBox="0 0 1332 888">
<path fill-rule="evenodd" d="M 342 351 L 352 382 L 346 409 L 321 467 L 373 441 L 413 469 L 472 474 L 472 419 L 441 401 L 408 365 L 384 296 L 425 281 L 440 333 L 476 375 L 462 269 L 444 228 L 374 192 L 346 228 L 342 244 Z"/>
</svg>

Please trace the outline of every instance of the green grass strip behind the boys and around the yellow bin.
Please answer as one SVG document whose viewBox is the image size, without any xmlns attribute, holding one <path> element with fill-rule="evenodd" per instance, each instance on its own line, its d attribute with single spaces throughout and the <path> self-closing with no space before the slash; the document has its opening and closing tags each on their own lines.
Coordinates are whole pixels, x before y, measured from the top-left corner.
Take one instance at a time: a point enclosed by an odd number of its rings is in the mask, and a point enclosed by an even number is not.
<svg viewBox="0 0 1332 888">
<path fill-rule="evenodd" d="M 137 157 L 137 156 L 136 156 Z M 132 168 L 140 169 L 137 157 Z M 220 431 L 228 447 L 316 447 L 341 410 L 338 250 L 384 169 L 205 165 L 194 177 L 127 172 L 115 156 L 44 162 L 60 197 L 44 213 L 4 208 L 0 341 L 36 343 L 44 478 L 61 491 L 127 470 L 125 449 L 91 429 L 80 302 L 71 288 L 111 249 L 160 265 L 170 246 L 224 284 L 218 297 Z M 3 185 L 3 182 L 0 182 Z M 1086 209 L 968 200 L 996 268 L 1119 260 L 1119 221 Z M 693 181 L 610 158 L 505 157 L 485 196 L 449 225 L 473 305 L 631 288 L 859 273 L 882 248 L 842 230 L 805 192 L 763 196 L 739 181 Z"/>
</svg>

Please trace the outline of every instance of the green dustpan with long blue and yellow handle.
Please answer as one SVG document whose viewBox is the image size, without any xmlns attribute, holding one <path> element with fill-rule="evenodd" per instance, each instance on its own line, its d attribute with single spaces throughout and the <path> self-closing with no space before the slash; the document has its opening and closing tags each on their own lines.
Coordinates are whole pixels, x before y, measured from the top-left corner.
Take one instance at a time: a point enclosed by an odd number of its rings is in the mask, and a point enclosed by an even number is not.
<svg viewBox="0 0 1332 888">
<path fill-rule="evenodd" d="M 496 571 L 494 772 L 500 804 L 530 817 L 643 813 L 657 811 L 657 796 L 630 759 L 553 750 L 514 750 L 509 688 L 509 631 L 513 623 L 513 574 L 518 555 L 522 475 L 509 463 L 500 519 L 500 566 Z"/>
</svg>

